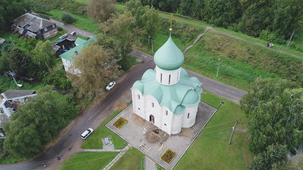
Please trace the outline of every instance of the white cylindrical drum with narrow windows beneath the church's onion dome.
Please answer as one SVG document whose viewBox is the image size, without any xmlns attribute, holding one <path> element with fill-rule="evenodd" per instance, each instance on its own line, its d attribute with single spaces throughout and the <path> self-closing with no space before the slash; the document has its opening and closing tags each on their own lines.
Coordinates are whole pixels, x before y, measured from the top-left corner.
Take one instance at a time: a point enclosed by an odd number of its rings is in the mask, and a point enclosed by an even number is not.
<svg viewBox="0 0 303 170">
<path fill-rule="evenodd" d="M 174 85 L 180 80 L 181 67 L 177 70 L 162 70 L 156 66 L 156 79 L 163 85 Z M 162 74 L 162 81 L 161 81 Z M 169 75 L 171 75 L 169 83 Z"/>
</svg>

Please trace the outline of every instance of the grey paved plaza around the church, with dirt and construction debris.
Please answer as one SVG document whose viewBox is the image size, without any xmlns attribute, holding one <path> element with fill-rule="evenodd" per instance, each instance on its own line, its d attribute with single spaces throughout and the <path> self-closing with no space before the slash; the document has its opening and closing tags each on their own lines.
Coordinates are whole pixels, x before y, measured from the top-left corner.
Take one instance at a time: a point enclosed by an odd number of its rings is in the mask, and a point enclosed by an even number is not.
<svg viewBox="0 0 303 170">
<path fill-rule="evenodd" d="M 188 149 L 195 137 L 198 136 L 198 134 L 201 132 L 201 129 L 203 129 L 208 120 L 214 115 L 215 111 L 215 108 L 203 102 L 200 102 L 198 105 L 198 112 L 194 126 L 190 128 L 182 128 L 180 133 L 171 136 L 168 136 L 168 134 L 165 132 L 161 133 L 161 130 L 158 135 L 152 133 L 151 130 L 155 129 L 156 127 L 133 113 L 132 104 L 128 106 L 124 111 L 122 111 L 106 126 L 118 134 L 120 137 L 125 139 L 128 143 L 145 153 L 153 161 L 157 162 L 165 169 L 170 170 Z M 126 119 L 128 123 L 122 126 L 122 128 L 117 129 L 116 127 L 112 126 L 112 124 L 120 117 Z M 161 146 L 159 143 L 161 141 L 163 141 L 163 147 L 158 152 L 158 149 Z M 177 153 L 175 158 L 169 164 L 160 159 L 160 156 L 165 152 L 167 148 Z"/>
</svg>

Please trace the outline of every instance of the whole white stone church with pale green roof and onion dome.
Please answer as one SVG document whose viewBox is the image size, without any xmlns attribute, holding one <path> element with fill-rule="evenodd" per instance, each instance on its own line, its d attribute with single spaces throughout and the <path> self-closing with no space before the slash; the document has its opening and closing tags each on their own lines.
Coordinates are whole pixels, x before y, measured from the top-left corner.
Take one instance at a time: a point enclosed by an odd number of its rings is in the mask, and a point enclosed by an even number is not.
<svg viewBox="0 0 303 170">
<path fill-rule="evenodd" d="M 201 82 L 181 68 L 184 55 L 171 34 L 154 55 L 156 67 L 146 70 L 132 90 L 133 112 L 169 135 L 195 124 Z"/>
</svg>

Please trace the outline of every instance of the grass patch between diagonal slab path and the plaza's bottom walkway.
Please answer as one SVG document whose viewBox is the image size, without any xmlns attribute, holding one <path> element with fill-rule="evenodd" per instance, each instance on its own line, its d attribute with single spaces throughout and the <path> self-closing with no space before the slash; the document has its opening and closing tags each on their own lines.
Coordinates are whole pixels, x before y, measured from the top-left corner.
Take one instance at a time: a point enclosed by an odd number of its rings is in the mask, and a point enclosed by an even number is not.
<svg viewBox="0 0 303 170">
<path fill-rule="evenodd" d="M 111 170 L 140 170 L 144 154 L 136 148 L 129 149 L 111 168 Z"/>
</svg>

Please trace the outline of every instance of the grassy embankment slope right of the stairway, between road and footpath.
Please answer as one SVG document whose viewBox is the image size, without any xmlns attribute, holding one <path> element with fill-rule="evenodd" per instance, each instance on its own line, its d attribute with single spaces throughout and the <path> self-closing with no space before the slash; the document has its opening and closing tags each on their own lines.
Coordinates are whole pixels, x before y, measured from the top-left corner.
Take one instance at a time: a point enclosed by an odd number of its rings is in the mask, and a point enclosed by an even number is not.
<svg viewBox="0 0 303 170">
<path fill-rule="evenodd" d="M 221 65 L 217 78 L 218 59 Z M 259 76 L 302 83 L 302 61 L 247 41 L 208 32 L 185 54 L 183 67 L 246 90 Z"/>
</svg>

